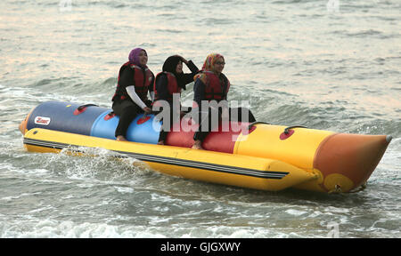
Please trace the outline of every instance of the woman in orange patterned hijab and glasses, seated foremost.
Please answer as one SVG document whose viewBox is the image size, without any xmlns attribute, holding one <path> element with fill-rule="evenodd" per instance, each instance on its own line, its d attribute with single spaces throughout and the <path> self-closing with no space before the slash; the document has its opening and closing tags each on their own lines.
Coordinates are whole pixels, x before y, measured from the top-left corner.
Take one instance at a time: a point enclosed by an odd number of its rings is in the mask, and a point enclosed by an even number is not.
<svg viewBox="0 0 401 256">
<path fill-rule="evenodd" d="M 209 129 L 206 129 L 206 127 L 202 127 L 201 121 L 198 122 L 200 125 L 193 136 L 194 143 L 192 148 L 203 149 L 201 146 L 202 141 L 206 138 L 206 136 L 213 128 L 216 128 L 213 127 L 211 120 L 212 116 L 218 116 L 219 121 L 221 121 L 222 117 L 227 121 L 230 120 L 250 123 L 256 121 L 255 117 L 252 115 L 249 109 L 248 118 L 241 117 L 241 108 L 235 109 L 237 111 L 235 113 L 239 114 L 237 118 L 233 118 L 233 116 L 231 115 L 233 113 L 233 108 L 228 108 L 227 102 L 227 93 L 230 89 L 230 81 L 222 73 L 224 68 L 225 58 L 223 57 L 223 55 L 218 53 L 211 53 L 208 55 L 205 62 L 203 63 L 201 73 L 194 77 L 195 84 L 193 85 L 194 95 L 192 113 L 195 114 L 195 118 L 199 117 L 198 120 L 206 120 L 207 117 Z M 216 100 L 218 106 L 221 108 L 211 108 L 209 105 L 207 109 L 201 109 L 202 100 L 207 100 L 208 102 Z M 202 112 L 207 113 L 208 116 L 202 116 Z"/>
</svg>

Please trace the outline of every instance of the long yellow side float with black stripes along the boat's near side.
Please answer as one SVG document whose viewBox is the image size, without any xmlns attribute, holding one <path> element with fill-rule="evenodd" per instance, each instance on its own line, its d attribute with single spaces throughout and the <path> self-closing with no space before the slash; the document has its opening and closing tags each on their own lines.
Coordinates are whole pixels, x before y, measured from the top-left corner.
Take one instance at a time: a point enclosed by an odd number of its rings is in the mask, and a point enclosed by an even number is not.
<svg viewBox="0 0 401 256">
<path fill-rule="evenodd" d="M 142 160 L 158 172 L 242 188 L 277 191 L 318 178 L 315 172 L 274 159 L 122 142 L 40 128 L 25 133 L 24 145 L 28 151 L 42 153 L 58 153 L 63 148 L 72 152 L 78 147 L 107 148 L 120 156 Z"/>
</svg>

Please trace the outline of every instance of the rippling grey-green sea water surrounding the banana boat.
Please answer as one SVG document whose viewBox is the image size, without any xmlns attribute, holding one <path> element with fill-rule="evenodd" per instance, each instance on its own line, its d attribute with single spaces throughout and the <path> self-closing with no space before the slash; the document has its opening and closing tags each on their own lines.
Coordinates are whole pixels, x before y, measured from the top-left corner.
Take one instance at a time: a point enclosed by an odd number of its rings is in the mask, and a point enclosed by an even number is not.
<svg viewBox="0 0 401 256">
<path fill-rule="evenodd" d="M 0 237 L 401 237 L 400 10 L 398 0 L 1 1 Z M 184 180 L 105 149 L 25 151 L 18 125 L 38 104 L 110 108 L 135 47 L 154 74 L 170 55 L 201 68 L 223 54 L 228 100 L 258 121 L 394 139 L 367 188 L 347 195 Z"/>
</svg>

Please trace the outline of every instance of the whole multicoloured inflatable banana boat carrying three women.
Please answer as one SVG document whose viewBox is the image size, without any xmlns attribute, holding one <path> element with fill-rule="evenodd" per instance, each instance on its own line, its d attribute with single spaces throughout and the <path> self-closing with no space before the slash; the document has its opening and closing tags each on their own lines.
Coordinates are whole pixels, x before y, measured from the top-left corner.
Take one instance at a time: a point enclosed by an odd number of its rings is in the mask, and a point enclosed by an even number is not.
<svg viewBox="0 0 401 256">
<path fill-rule="evenodd" d="M 228 131 L 220 127 L 209 132 L 202 144 L 205 150 L 199 150 L 191 148 L 194 132 L 185 127 L 191 121 L 168 132 L 166 145 L 157 145 L 161 123 L 153 115 L 135 118 L 127 131 L 129 141 L 114 137 L 118 123 L 119 116 L 110 108 L 48 101 L 30 111 L 20 131 L 24 147 L 32 152 L 81 154 L 82 148 L 106 148 L 116 156 L 141 160 L 154 171 L 186 179 L 325 193 L 352 192 L 364 186 L 392 139 L 231 122 Z"/>
</svg>

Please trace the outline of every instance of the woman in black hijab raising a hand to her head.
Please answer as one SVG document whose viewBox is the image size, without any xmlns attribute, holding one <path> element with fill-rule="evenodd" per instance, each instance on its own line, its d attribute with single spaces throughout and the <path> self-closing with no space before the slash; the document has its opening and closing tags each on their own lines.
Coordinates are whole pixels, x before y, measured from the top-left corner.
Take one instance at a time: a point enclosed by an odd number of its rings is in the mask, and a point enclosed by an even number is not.
<svg viewBox="0 0 401 256">
<path fill-rule="evenodd" d="M 184 74 L 183 62 L 192 73 Z M 164 145 L 164 140 L 166 140 L 168 130 L 174 123 L 174 114 L 176 113 L 176 116 L 180 116 L 181 114 L 181 104 L 180 102 L 173 104 L 173 95 L 176 93 L 177 95 L 180 95 L 182 89 L 186 90 L 185 85 L 192 83 L 193 76 L 199 72 L 199 69 L 195 66 L 195 64 L 193 64 L 192 60 L 185 60 L 179 55 L 168 57 L 168 59 L 164 61 L 162 70 L 163 71 L 156 76 L 156 83 L 154 84 L 153 88 L 155 93 L 153 107 L 165 107 L 169 110 L 169 116 L 163 116 L 163 127 L 162 131 L 160 132 L 158 143 L 160 145 Z M 176 99 L 179 100 L 179 98 Z M 162 103 L 162 100 L 165 101 Z M 163 112 L 163 110 L 161 109 L 160 112 Z M 166 120 L 168 117 L 169 120 Z"/>
</svg>

